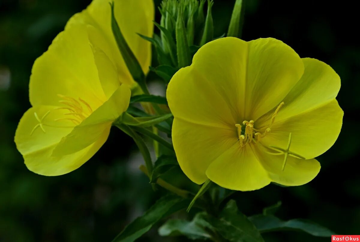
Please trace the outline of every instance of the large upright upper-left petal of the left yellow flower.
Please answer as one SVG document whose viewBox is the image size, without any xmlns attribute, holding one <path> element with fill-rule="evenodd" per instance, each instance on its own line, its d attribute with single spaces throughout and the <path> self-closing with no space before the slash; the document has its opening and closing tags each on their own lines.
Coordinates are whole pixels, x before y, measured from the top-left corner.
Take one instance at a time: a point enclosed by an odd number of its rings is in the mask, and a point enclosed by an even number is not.
<svg viewBox="0 0 360 242">
<path fill-rule="evenodd" d="M 60 98 L 57 94 L 76 99 L 80 97 L 93 109 L 106 100 L 86 28 L 79 24 L 72 24 L 59 33 L 32 68 L 32 106 L 58 106 Z"/>
</svg>

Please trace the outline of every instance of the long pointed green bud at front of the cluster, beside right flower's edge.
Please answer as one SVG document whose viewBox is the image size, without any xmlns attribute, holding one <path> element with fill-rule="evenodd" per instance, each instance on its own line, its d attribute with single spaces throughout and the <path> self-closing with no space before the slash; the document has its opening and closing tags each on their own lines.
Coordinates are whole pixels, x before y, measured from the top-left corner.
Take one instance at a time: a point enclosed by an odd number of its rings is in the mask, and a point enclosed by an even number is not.
<svg viewBox="0 0 360 242">
<path fill-rule="evenodd" d="M 183 6 L 180 5 L 175 27 L 177 64 L 179 68 L 190 66 L 191 64 L 190 49 L 188 45 L 188 37 L 186 36 L 183 11 Z"/>
</svg>

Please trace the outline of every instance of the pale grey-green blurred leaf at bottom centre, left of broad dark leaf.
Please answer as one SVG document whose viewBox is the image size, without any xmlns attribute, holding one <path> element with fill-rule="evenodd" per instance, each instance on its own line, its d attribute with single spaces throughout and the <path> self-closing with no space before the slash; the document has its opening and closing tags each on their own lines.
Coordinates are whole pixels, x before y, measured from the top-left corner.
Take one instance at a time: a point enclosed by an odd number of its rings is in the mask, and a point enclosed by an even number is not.
<svg viewBox="0 0 360 242">
<path fill-rule="evenodd" d="M 195 215 L 193 221 L 187 221 L 184 219 L 171 219 L 163 224 L 158 232 L 161 236 L 186 236 L 189 239 L 210 239 L 212 235 L 205 229 L 209 225 L 204 226 L 207 223 L 203 221 L 202 214 Z"/>
</svg>

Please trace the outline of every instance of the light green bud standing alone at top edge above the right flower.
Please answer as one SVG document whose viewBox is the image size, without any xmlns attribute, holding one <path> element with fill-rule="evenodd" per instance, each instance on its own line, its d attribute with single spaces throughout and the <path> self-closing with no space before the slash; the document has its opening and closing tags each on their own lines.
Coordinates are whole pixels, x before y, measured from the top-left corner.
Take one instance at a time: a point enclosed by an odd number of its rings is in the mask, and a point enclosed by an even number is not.
<svg viewBox="0 0 360 242">
<path fill-rule="evenodd" d="M 228 36 L 241 38 L 244 23 L 244 10 L 245 0 L 236 0 L 229 24 Z"/>
</svg>

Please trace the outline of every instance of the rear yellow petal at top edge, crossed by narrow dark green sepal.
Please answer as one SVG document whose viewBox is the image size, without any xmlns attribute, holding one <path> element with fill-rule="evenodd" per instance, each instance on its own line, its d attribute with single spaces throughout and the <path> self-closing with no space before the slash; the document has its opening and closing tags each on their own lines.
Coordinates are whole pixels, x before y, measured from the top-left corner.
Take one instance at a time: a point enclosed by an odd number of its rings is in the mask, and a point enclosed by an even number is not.
<svg viewBox="0 0 360 242">
<path fill-rule="evenodd" d="M 114 60 L 119 73 L 126 73 L 126 76 L 123 76 L 124 80 L 122 82 L 130 84 L 130 81 L 132 81 L 131 75 L 121 57 L 120 51 L 118 51 L 111 30 L 109 1 L 94 0 L 85 12 L 88 14 L 88 18 L 85 21 L 100 31 L 99 34 L 96 34 L 94 31 L 91 32 L 90 39 L 110 59 Z M 151 44 L 149 41 L 142 39 L 137 33 L 149 37 L 153 35 L 153 0 L 114 1 L 114 14 L 127 44 L 138 59 L 144 73 L 147 73 L 151 63 Z M 104 36 L 107 42 L 101 40 L 103 38 L 101 36 Z"/>
</svg>

